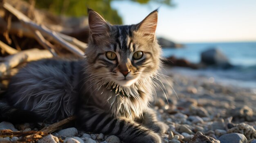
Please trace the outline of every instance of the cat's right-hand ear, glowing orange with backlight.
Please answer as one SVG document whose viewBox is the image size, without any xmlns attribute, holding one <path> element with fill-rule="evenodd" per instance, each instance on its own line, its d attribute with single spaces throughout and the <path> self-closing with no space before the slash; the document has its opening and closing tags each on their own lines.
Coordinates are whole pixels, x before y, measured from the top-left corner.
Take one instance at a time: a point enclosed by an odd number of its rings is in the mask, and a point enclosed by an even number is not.
<svg viewBox="0 0 256 143">
<path fill-rule="evenodd" d="M 138 31 L 144 36 L 147 36 L 152 41 L 155 40 L 155 30 L 157 29 L 157 15 L 158 9 L 152 11 L 137 26 Z"/>
</svg>

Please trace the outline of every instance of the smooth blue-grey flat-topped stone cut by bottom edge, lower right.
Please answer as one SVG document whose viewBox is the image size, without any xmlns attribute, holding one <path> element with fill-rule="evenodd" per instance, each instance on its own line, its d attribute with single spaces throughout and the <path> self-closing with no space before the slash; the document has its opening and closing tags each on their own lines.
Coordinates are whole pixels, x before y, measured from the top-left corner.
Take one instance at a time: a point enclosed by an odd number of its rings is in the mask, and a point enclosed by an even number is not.
<svg viewBox="0 0 256 143">
<path fill-rule="evenodd" d="M 221 143 L 247 143 L 245 135 L 239 133 L 224 134 L 219 140 Z"/>
</svg>

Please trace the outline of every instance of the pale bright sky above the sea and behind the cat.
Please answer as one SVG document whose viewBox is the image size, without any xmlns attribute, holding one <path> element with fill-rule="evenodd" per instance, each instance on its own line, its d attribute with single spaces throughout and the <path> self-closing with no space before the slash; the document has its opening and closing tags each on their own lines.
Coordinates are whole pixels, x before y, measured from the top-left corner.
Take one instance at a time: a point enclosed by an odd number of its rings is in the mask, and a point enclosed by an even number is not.
<svg viewBox="0 0 256 143">
<path fill-rule="evenodd" d="M 124 24 L 159 8 L 156 34 L 175 42 L 256 41 L 256 0 L 173 0 L 175 7 L 113 1 Z"/>
</svg>

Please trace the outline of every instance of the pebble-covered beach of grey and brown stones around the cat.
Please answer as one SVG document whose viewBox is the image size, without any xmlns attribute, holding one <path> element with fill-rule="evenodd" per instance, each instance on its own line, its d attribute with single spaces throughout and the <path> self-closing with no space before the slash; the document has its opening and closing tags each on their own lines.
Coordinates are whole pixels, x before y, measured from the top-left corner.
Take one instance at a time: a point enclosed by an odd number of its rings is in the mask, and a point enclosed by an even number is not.
<svg viewBox="0 0 256 143">
<path fill-rule="evenodd" d="M 255 91 L 223 86 L 205 77 L 181 75 L 171 67 L 164 67 L 162 74 L 164 87 L 157 88 L 157 100 L 151 106 L 169 126 L 162 135 L 163 143 L 256 143 Z M 1 122 L 0 130 L 38 131 L 38 125 Z M 4 137 L 0 142 L 19 143 L 17 140 L 21 138 Z M 59 142 L 121 143 L 117 136 L 83 132 L 73 126 L 39 140 L 39 143 Z"/>
</svg>

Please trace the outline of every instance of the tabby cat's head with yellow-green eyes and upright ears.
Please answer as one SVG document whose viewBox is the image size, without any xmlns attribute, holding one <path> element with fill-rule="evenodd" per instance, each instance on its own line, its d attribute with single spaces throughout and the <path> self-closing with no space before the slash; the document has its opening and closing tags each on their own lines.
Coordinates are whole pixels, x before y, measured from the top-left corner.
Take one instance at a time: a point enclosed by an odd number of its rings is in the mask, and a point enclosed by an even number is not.
<svg viewBox="0 0 256 143">
<path fill-rule="evenodd" d="M 131 86 L 157 73 L 161 48 L 155 38 L 157 10 L 139 24 L 111 25 L 89 9 L 90 39 L 85 51 L 90 79 Z"/>
</svg>

